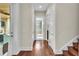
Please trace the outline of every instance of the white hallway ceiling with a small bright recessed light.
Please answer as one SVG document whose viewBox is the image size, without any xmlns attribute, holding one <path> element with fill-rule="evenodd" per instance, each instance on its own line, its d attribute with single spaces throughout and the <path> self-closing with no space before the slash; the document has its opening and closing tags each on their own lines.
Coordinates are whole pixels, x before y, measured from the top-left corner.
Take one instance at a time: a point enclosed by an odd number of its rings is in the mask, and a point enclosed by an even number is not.
<svg viewBox="0 0 79 59">
<path fill-rule="evenodd" d="M 47 7 L 48 7 L 47 3 L 34 3 L 33 4 L 33 8 L 35 11 L 46 11 Z"/>
</svg>

